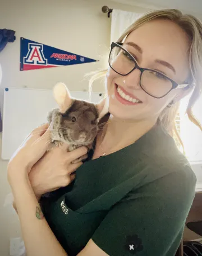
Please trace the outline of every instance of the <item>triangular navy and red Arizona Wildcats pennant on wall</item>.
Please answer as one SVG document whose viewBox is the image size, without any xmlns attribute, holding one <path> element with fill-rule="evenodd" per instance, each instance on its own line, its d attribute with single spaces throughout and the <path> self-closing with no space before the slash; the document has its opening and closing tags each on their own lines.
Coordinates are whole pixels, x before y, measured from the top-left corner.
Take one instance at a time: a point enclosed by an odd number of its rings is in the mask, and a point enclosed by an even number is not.
<svg viewBox="0 0 202 256">
<path fill-rule="evenodd" d="M 58 48 L 34 42 L 23 37 L 20 38 L 21 71 L 83 64 L 94 61 L 97 60 L 59 50 Z"/>
</svg>

